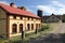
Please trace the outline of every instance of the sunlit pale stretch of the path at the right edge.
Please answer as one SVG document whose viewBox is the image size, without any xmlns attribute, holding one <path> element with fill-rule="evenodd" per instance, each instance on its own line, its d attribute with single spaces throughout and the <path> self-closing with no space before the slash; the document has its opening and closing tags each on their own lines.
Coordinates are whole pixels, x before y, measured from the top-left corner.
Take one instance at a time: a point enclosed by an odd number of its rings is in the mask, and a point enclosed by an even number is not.
<svg viewBox="0 0 65 43">
<path fill-rule="evenodd" d="M 50 33 L 65 33 L 65 24 L 56 24 Z"/>
</svg>

